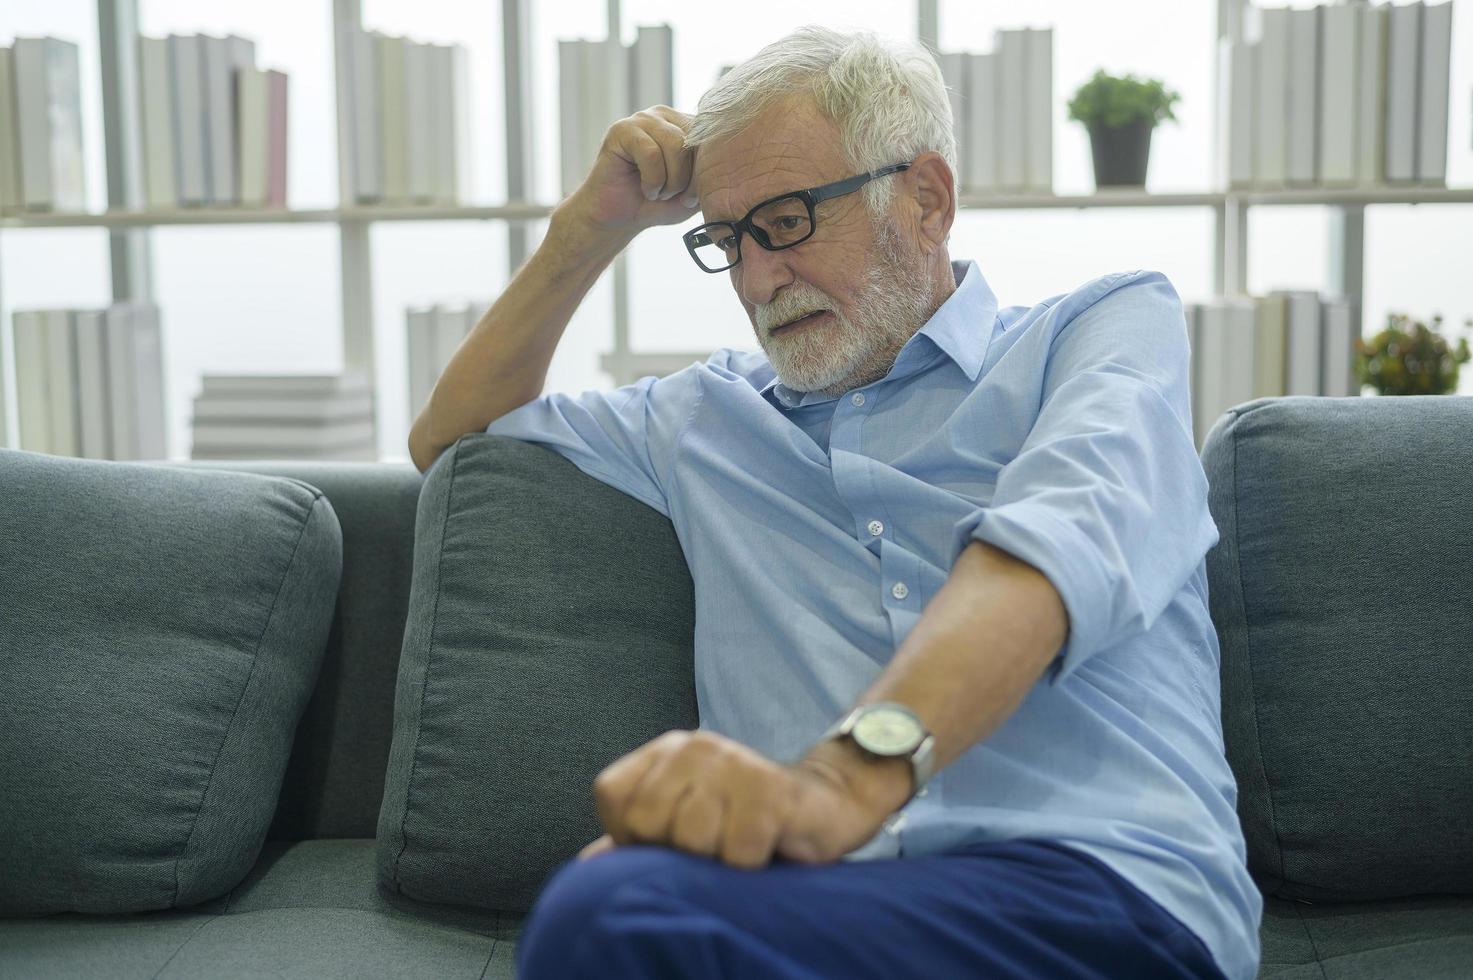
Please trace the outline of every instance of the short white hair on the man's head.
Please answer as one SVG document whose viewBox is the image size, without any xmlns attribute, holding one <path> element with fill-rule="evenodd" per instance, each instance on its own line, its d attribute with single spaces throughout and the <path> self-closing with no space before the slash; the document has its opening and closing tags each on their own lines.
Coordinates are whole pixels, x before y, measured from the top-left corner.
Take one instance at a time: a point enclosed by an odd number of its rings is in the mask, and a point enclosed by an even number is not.
<svg viewBox="0 0 1473 980">
<path fill-rule="evenodd" d="M 869 31 L 843 34 L 807 25 L 767 44 L 711 85 L 695 108 L 685 146 L 725 140 L 769 106 L 804 93 L 832 119 L 853 172 L 909 162 L 927 150 L 956 175 L 952 100 L 941 68 L 915 41 Z M 872 218 L 890 212 L 893 181 L 863 187 Z"/>
</svg>

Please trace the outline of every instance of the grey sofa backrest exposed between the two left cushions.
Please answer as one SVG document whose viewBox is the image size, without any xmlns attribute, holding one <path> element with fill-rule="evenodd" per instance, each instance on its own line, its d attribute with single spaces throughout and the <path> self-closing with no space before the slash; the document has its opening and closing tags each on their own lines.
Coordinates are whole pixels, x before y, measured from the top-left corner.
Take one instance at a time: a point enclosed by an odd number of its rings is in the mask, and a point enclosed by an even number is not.
<svg viewBox="0 0 1473 980">
<path fill-rule="evenodd" d="M 286 476 L 323 491 L 343 531 L 343 581 L 323 669 L 302 712 L 268 840 L 373 837 L 393 734 L 393 684 L 409 609 L 409 463 L 208 461 L 189 467 Z"/>
</svg>

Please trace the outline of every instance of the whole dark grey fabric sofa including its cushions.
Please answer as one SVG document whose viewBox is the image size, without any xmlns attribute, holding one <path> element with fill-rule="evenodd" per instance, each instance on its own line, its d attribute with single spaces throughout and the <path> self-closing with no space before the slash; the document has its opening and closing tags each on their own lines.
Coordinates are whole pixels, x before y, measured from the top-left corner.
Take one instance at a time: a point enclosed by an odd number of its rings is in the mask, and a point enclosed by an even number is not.
<svg viewBox="0 0 1473 980">
<path fill-rule="evenodd" d="M 1473 977 L 1473 399 L 1249 402 L 1218 421 L 1203 463 L 1223 532 L 1208 563 L 1226 750 L 1265 893 L 1261 976 Z M 169 494 L 150 497 L 155 483 Z M 236 492 L 252 520 L 194 538 L 177 516 L 149 526 L 190 501 L 227 510 Z M 68 523 L 72 511 L 85 520 Z M 292 533 L 256 541 L 273 522 Z M 75 523 L 88 533 L 69 536 Z M 150 544 L 186 538 L 184 550 Z M 150 547 L 168 554 L 140 560 Z M 159 676 L 174 681 L 130 688 L 105 738 L 71 746 L 75 727 L 53 725 L 56 706 L 78 704 L 77 685 L 133 647 L 97 645 L 128 609 L 78 635 L 65 610 L 141 582 L 134 612 L 199 613 L 181 622 L 230 653 L 240 644 L 219 625 L 225 613 L 187 597 L 256 588 L 221 557 L 231 550 L 281 557 L 256 584 L 270 603 L 239 612 L 258 647 L 225 696 L 234 715 L 215 694 L 199 701 L 205 722 L 225 721 L 202 738 L 214 765 L 205 788 L 181 797 L 194 827 L 183 853 L 162 831 L 158 844 L 125 836 L 109 844 L 118 864 L 96 872 L 85 834 L 137 830 L 119 828 L 149 819 L 130 808 L 172 811 L 122 790 L 78 805 L 87 787 L 122 777 L 115 762 L 77 774 L 77 759 L 127 741 L 130 718 L 153 724 L 203 668 L 159 653 L 165 640 L 190 648 L 178 629 L 150 643 Z M 90 554 L 113 564 L 91 567 Z M 171 585 L 180 567 L 197 581 Z M 306 579 L 336 582 L 336 598 L 314 597 Z M 306 595 L 295 612 L 292 595 Z M 250 619 L 256 606 L 264 625 Z M 0 451 L 0 785 L 19 787 L 0 805 L 10 878 L 0 976 L 513 976 L 538 884 L 597 836 L 591 774 L 653 732 L 694 725 L 691 615 L 669 522 L 557 454 L 498 436 L 465 436 L 424 477 L 390 464 L 134 466 Z M 305 665 L 300 685 L 259 688 L 271 644 L 273 676 Z M 49 659 L 34 656 L 41 647 Z M 93 657 L 88 672 L 53 690 L 49 672 L 74 650 Z M 109 710 L 112 690 L 99 682 L 88 710 Z M 280 728 L 281 704 L 280 746 L 236 734 Z M 259 715 L 242 722 L 249 710 Z M 171 743 L 152 744 L 166 755 Z M 52 752 L 74 755 L 62 766 Z M 281 762 L 247 772 L 255 757 Z M 128 765 L 140 785 L 162 778 L 147 759 Z M 196 768 L 183 757 L 165 775 L 187 783 Z M 222 785 L 252 778 L 250 793 Z M 202 841 L 215 794 L 225 818 Z M 91 822 L 77 831 L 72 813 Z M 227 859 L 240 840 L 243 877 L 240 858 Z M 162 858 L 127 867 L 149 846 Z M 212 859 L 217 846 L 227 858 Z M 116 902 L 162 897 L 144 912 L 37 914 L 75 908 L 103 884 Z"/>
</svg>

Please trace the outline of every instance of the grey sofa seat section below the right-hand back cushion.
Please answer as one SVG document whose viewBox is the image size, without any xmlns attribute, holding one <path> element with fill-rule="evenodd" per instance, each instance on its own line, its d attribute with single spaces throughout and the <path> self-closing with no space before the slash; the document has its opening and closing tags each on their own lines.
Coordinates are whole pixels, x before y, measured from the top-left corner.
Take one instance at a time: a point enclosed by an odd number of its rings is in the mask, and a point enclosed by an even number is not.
<svg viewBox="0 0 1473 980">
<path fill-rule="evenodd" d="M 1466 980 L 1473 899 L 1309 905 L 1267 897 L 1258 936 L 1264 980 Z"/>
</svg>

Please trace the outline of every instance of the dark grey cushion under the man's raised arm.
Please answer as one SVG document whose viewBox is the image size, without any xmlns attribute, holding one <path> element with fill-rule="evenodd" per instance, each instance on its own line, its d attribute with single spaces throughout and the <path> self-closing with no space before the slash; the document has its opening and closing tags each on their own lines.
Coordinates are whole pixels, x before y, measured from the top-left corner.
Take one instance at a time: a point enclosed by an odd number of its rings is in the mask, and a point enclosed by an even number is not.
<svg viewBox="0 0 1473 980">
<path fill-rule="evenodd" d="M 379 819 L 409 897 L 526 911 L 598 837 L 594 777 L 695 728 L 669 519 L 554 451 L 463 436 L 426 476 Z"/>
</svg>

